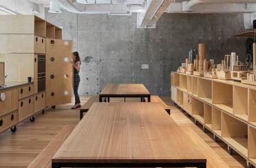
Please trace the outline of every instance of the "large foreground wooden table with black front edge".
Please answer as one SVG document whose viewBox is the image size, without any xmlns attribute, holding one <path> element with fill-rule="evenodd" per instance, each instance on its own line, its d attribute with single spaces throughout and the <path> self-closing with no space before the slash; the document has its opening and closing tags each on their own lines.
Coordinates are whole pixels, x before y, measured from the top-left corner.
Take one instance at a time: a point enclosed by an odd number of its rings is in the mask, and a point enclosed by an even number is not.
<svg viewBox="0 0 256 168">
<path fill-rule="evenodd" d="M 160 103 L 94 103 L 52 158 L 52 167 L 206 167 Z"/>
</svg>

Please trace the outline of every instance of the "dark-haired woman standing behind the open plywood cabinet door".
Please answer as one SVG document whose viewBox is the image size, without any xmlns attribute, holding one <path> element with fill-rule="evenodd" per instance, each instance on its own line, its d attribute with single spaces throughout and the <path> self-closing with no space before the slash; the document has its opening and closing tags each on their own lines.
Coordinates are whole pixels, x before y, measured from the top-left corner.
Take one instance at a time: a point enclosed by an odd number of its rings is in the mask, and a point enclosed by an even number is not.
<svg viewBox="0 0 256 168">
<path fill-rule="evenodd" d="M 74 84 L 73 84 L 73 90 L 74 90 L 74 96 L 75 96 L 75 104 L 72 107 L 72 109 L 80 108 L 80 98 L 78 95 L 78 86 L 80 83 L 80 76 L 79 76 L 79 71 L 80 71 L 80 66 L 81 66 L 81 60 L 79 57 L 78 52 L 72 53 L 72 67 L 74 67 Z"/>
</svg>

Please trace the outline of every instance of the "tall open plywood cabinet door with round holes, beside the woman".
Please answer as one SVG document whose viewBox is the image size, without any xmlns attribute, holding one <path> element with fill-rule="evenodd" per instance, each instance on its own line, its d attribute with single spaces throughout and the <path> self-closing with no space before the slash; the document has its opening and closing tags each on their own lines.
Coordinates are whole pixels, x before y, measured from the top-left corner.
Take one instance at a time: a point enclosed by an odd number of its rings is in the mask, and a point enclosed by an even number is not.
<svg viewBox="0 0 256 168">
<path fill-rule="evenodd" d="M 46 40 L 46 106 L 71 102 L 71 56 L 72 40 Z"/>
</svg>

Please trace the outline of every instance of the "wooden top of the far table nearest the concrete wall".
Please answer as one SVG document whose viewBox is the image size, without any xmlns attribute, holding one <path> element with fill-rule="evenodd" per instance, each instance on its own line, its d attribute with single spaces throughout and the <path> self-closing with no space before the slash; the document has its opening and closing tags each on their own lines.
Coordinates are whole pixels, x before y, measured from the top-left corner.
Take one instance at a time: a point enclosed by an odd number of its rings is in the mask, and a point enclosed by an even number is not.
<svg viewBox="0 0 256 168">
<path fill-rule="evenodd" d="M 150 95 L 144 84 L 107 84 L 100 95 Z"/>
</svg>

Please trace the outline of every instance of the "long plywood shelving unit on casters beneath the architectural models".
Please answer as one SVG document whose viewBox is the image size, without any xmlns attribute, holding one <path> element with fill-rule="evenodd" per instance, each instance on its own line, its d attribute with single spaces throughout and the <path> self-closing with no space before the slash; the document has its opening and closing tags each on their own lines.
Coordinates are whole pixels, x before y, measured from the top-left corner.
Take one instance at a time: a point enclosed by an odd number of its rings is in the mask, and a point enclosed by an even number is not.
<svg viewBox="0 0 256 168">
<path fill-rule="evenodd" d="M 256 166 L 256 86 L 176 72 L 171 77 L 183 99 L 178 106 L 226 143 L 228 152 Z"/>
</svg>

